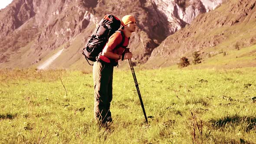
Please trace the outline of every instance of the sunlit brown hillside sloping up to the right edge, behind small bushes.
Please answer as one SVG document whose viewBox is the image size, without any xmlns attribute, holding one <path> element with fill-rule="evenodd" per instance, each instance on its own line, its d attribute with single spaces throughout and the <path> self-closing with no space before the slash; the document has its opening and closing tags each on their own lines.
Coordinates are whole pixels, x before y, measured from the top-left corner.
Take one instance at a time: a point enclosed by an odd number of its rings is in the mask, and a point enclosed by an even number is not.
<svg viewBox="0 0 256 144">
<path fill-rule="evenodd" d="M 191 25 L 168 36 L 155 48 L 148 65 L 173 65 L 182 56 L 191 58 L 196 51 L 207 58 L 236 46 L 256 44 L 255 5 L 255 0 L 230 0 L 216 10 L 197 16 Z M 252 54 L 255 55 L 255 51 Z"/>
</svg>

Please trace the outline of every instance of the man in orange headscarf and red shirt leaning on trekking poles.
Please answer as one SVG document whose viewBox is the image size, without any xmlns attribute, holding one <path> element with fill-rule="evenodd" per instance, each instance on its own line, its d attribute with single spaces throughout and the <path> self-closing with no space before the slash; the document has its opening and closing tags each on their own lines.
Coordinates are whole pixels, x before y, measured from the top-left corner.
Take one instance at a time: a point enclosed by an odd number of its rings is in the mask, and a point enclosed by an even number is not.
<svg viewBox="0 0 256 144">
<path fill-rule="evenodd" d="M 131 33 L 135 32 L 136 22 L 131 15 L 126 15 L 121 20 L 121 31 L 115 32 L 108 39 L 102 50 L 102 56 L 94 62 L 94 117 L 99 124 L 112 122 L 110 102 L 112 101 L 113 68 L 118 60 L 131 59 L 131 52 L 125 52 Z M 124 39 L 123 39 L 124 38 Z M 124 41 L 122 41 L 124 40 Z M 122 46 L 119 46 L 123 42 Z"/>
</svg>

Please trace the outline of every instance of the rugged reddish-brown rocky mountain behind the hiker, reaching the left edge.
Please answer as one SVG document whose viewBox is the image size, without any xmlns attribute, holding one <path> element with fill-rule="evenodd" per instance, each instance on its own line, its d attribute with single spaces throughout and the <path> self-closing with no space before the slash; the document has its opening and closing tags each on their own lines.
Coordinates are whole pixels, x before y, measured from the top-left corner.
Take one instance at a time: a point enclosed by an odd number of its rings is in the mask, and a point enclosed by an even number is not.
<svg viewBox="0 0 256 144">
<path fill-rule="evenodd" d="M 246 0 L 240 1 L 244 5 Z M 180 30 L 184 27 L 187 31 L 197 27 L 207 19 L 202 13 L 213 12 L 221 3 L 223 0 L 13 0 L 0 10 L 0 68 L 38 66 L 62 50 L 48 68 L 85 69 L 81 49 L 105 14 L 120 19 L 127 14 L 136 17 L 138 29 L 131 36 L 129 47 L 135 61 L 145 63 L 149 58 L 165 56 L 166 46 L 169 49 L 176 43 L 170 35 L 184 32 Z M 193 21 L 195 18 L 197 22 Z M 189 33 L 175 36 L 185 38 L 192 32 Z M 180 47 L 169 50 L 173 49 Z"/>
</svg>

